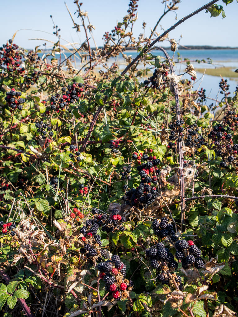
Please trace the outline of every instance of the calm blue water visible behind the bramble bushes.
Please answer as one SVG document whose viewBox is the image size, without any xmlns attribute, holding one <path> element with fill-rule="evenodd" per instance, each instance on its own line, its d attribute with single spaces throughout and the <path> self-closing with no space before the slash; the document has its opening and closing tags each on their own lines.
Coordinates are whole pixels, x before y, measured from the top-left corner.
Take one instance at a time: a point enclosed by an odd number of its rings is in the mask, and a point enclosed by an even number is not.
<svg viewBox="0 0 238 317">
<path fill-rule="evenodd" d="M 151 54 L 155 56 L 161 56 L 162 60 L 164 55 L 160 50 L 152 50 L 150 52 Z M 168 51 L 169 55 L 172 57 L 173 54 L 171 51 Z M 177 60 L 177 53 L 180 54 L 180 58 L 182 60 L 184 58 L 188 58 L 189 60 L 206 60 L 210 58 L 213 62 L 213 64 L 208 64 L 208 63 L 197 63 L 197 62 L 192 62 L 195 69 L 197 68 L 215 68 L 215 67 L 231 67 L 232 70 L 235 70 L 238 68 L 238 49 L 182 49 L 179 51 L 175 52 L 175 61 Z M 61 61 L 63 61 L 65 58 L 69 57 L 71 53 L 64 53 L 61 55 Z M 126 54 L 129 56 L 131 55 L 132 59 L 136 57 L 138 54 L 136 50 L 129 50 L 126 52 Z M 39 54 L 41 57 L 43 54 Z M 59 59 L 59 55 L 56 55 L 56 57 Z M 51 56 L 48 57 L 48 60 L 50 61 Z M 113 62 L 116 62 L 119 65 L 119 70 L 122 70 L 123 68 L 126 67 L 126 62 L 122 58 L 122 55 L 120 54 L 117 58 L 110 58 L 108 62 L 108 66 L 110 66 Z M 76 66 L 77 69 L 81 68 L 83 65 L 81 65 L 79 59 L 76 59 Z M 140 68 L 143 68 L 143 64 L 141 63 Z M 186 64 L 184 63 L 176 63 L 175 64 L 175 71 L 177 74 L 181 74 L 184 72 L 184 69 L 186 68 Z M 99 68 L 96 69 L 98 71 Z M 190 79 L 191 76 L 188 74 L 184 75 L 185 79 Z M 197 89 L 200 85 L 200 87 L 203 87 L 206 89 L 206 94 L 207 96 L 211 98 L 216 98 L 216 95 L 219 90 L 219 81 L 221 80 L 220 77 L 218 76 L 210 76 L 206 75 L 202 77 L 201 73 L 197 73 L 197 81 L 194 84 L 194 89 Z M 200 79 L 201 78 L 201 79 Z M 238 78 L 224 78 L 227 79 L 229 84 L 230 84 L 230 92 L 231 96 L 233 95 L 233 91 L 235 90 L 235 87 L 238 85 Z M 222 95 L 219 94 L 218 98 L 221 98 Z M 207 105 L 211 103 L 212 101 L 207 102 Z"/>
</svg>

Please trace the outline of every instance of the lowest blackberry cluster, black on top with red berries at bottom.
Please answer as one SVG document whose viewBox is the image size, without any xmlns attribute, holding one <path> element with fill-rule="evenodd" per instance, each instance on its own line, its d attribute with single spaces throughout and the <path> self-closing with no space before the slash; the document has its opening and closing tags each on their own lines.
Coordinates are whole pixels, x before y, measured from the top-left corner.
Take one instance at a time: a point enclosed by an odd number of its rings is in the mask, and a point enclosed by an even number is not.
<svg viewBox="0 0 238 317">
<path fill-rule="evenodd" d="M 117 300 L 129 297 L 133 282 L 125 278 L 126 265 L 119 256 L 114 255 L 110 260 L 98 263 L 97 269 L 100 279 L 105 282 L 106 292 L 112 292 L 113 298 Z"/>
</svg>

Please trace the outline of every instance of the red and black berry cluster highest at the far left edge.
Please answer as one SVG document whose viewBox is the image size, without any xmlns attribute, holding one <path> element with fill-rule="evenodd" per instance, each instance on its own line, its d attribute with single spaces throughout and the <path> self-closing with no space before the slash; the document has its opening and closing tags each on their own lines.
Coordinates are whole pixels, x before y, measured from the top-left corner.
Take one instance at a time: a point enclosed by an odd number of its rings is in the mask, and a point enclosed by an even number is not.
<svg viewBox="0 0 238 317">
<path fill-rule="evenodd" d="M 21 64 L 22 54 L 16 44 L 9 40 L 3 47 L 0 47 L 0 65 L 6 66 L 9 72 L 17 70 Z"/>
</svg>

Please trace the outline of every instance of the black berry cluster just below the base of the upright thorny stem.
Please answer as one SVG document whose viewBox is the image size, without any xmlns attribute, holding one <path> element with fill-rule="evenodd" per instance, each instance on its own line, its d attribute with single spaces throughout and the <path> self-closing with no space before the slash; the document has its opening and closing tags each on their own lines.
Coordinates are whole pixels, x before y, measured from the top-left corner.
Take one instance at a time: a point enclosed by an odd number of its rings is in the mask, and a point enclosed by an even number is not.
<svg viewBox="0 0 238 317">
<path fill-rule="evenodd" d="M 162 217 L 161 220 L 155 219 L 152 223 L 152 229 L 154 230 L 155 236 L 159 238 L 169 237 L 172 242 L 178 240 L 173 223 L 168 223 L 166 217 Z"/>
</svg>

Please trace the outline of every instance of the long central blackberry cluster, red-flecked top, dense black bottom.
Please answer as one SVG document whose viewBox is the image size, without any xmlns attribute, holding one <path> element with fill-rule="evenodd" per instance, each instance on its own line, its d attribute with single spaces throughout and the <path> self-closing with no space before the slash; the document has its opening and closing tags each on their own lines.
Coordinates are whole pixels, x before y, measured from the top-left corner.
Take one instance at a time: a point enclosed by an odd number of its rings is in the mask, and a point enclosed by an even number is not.
<svg viewBox="0 0 238 317">
<path fill-rule="evenodd" d="M 149 150 L 149 152 L 151 151 Z M 141 183 L 138 187 L 127 190 L 122 199 L 127 205 L 136 206 L 139 209 L 147 208 L 155 201 L 158 194 L 156 187 L 151 187 L 150 184 L 157 184 L 158 182 L 156 175 L 159 174 L 157 165 L 160 164 L 160 159 L 157 159 L 156 156 L 149 156 L 146 153 L 138 155 L 136 152 L 132 157 L 138 160 L 137 163 L 139 165 L 136 168 L 141 176 Z M 144 160 L 143 163 L 141 163 L 141 158 Z"/>
</svg>

